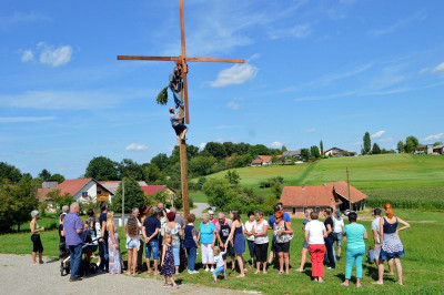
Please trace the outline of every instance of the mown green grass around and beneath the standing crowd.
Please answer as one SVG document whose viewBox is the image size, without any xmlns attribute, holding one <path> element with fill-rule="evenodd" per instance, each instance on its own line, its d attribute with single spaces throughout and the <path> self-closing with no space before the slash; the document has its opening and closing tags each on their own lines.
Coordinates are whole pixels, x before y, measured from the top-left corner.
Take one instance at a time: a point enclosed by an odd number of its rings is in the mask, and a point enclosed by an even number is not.
<svg viewBox="0 0 444 295">
<path fill-rule="evenodd" d="M 385 285 L 372 285 L 376 268 L 374 264 L 364 263 L 364 277 L 362 279 L 363 287 L 357 289 L 354 283 L 349 288 L 340 286 L 344 278 L 345 272 L 345 252 L 346 243 L 343 245 L 343 260 L 337 263 L 336 269 L 325 269 L 325 284 L 317 284 L 311 281 L 310 255 L 307 255 L 307 264 L 304 273 L 299 273 L 295 269 L 299 267 L 301 260 L 301 248 L 303 243 L 303 233 L 301 231 L 302 220 L 293 220 L 292 227 L 295 232 L 295 237 L 291 242 L 291 275 L 279 275 L 278 269 L 270 268 L 266 275 L 253 274 L 253 268 L 249 268 L 245 278 L 235 278 L 236 272 L 228 271 L 228 279 L 220 281 L 218 284 L 212 284 L 210 273 L 200 269 L 199 275 L 189 275 L 182 272 L 176 276 L 176 281 L 182 284 L 201 284 L 206 286 L 216 286 L 226 289 L 239 291 L 258 291 L 265 294 L 294 294 L 294 293 L 317 293 L 339 294 L 343 292 L 359 293 L 423 293 L 438 294 L 444 287 L 442 279 L 442 265 L 444 256 L 442 255 L 441 245 L 444 244 L 444 218 L 440 213 L 424 213 L 415 211 L 396 211 L 401 217 L 412 221 L 412 228 L 401 233 L 401 238 L 405 246 L 405 257 L 402 258 L 404 272 L 404 287 L 395 285 L 396 277 L 385 275 Z M 366 217 L 370 217 L 366 212 Z M 416 221 L 416 222 L 415 222 Z M 428 222 L 424 222 L 428 221 Z M 371 221 L 361 222 L 370 231 Z M 195 223 L 199 224 L 199 221 Z M 119 235 L 122 237 L 123 228 L 119 228 Z M 270 231 L 271 235 L 271 231 Z M 50 257 L 58 256 L 59 236 L 57 231 L 43 232 L 41 235 L 44 255 Z M 433 240 L 433 243 L 431 243 Z M 127 260 L 124 248 L 124 238 L 121 240 L 122 256 Z M 367 246 L 372 245 L 372 241 L 367 241 Z M 246 247 L 248 248 L 248 247 Z M 11 254 L 30 254 L 32 243 L 29 233 L 0 235 L 0 252 Z M 200 251 L 198 251 L 200 252 Z M 246 261 L 250 260 L 248 250 L 244 254 Z M 198 255 L 198 267 L 201 267 L 201 257 Z M 31 264 L 31 258 L 30 258 Z M 54 268 L 54 271 L 58 271 Z M 354 273 L 353 273 L 354 274 Z M 148 277 L 147 273 L 139 274 L 140 277 Z M 153 277 L 150 275 L 150 277 Z M 157 277 L 161 279 L 161 277 Z M 354 278 L 352 276 L 352 282 Z"/>
</svg>

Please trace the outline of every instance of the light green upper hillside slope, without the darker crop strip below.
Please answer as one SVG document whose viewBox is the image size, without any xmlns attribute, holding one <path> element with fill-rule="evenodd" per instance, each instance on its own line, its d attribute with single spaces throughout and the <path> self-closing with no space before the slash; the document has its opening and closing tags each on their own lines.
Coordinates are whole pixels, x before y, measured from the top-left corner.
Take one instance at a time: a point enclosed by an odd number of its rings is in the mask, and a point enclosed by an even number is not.
<svg viewBox="0 0 444 295">
<path fill-rule="evenodd" d="M 331 157 L 300 165 L 271 165 L 235 169 L 242 186 L 259 189 L 260 182 L 283 176 L 284 185 L 317 185 L 346 181 L 357 189 L 423 187 L 444 185 L 444 156 L 385 154 L 354 157 Z M 206 177 L 223 177 L 226 171 Z"/>
</svg>

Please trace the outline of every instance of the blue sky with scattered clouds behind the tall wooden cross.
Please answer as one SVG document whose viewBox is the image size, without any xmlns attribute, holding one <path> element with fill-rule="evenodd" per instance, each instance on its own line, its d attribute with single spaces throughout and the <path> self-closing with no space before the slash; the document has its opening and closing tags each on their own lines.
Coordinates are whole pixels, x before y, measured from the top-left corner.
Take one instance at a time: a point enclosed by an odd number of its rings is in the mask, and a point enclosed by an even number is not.
<svg viewBox="0 0 444 295">
<path fill-rule="evenodd" d="M 189 63 L 189 144 L 444 140 L 443 1 L 184 2 L 189 57 L 246 61 Z M 171 153 L 174 64 L 117 55 L 179 55 L 178 0 L 3 0 L 0 40 L 0 161 L 78 177 Z"/>
</svg>

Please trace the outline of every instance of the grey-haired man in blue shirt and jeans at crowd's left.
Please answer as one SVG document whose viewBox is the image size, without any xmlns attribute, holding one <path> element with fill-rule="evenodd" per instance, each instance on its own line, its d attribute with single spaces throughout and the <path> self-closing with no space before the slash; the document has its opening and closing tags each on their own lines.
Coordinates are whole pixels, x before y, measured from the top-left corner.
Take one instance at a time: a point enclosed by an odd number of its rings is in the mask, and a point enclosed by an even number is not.
<svg viewBox="0 0 444 295">
<path fill-rule="evenodd" d="M 63 230 L 67 245 L 71 255 L 71 277 L 70 282 L 82 281 L 80 277 L 80 264 L 82 262 L 83 246 L 83 224 L 79 217 L 79 204 L 72 203 L 70 213 L 63 220 Z"/>
</svg>

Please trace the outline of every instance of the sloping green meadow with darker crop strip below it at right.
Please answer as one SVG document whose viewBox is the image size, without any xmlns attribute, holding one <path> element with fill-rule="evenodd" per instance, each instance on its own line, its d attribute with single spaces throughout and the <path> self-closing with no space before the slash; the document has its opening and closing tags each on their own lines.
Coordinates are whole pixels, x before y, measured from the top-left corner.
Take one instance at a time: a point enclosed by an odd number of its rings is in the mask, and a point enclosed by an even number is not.
<svg viewBox="0 0 444 295">
<path fill-rule="evenodd" d="M 320 185 L 346 181 L 346 167 L 350 170 L 350 183 L 369 195 L 369 205 L 381 206 L 384 202 L 392 202 L 395 207 L 444 210 L 444 156 L 384 154 L 331 157 L 299 165 L 249 166 L 235 171 L 242 186 L 268 194 L 270 189 L 261 189 L 260 183 L 271 177 L 284 177 L 285 186 Z M 221 179 L 225 173 L 222 171 L 208 177 Z"/>
</svg>

